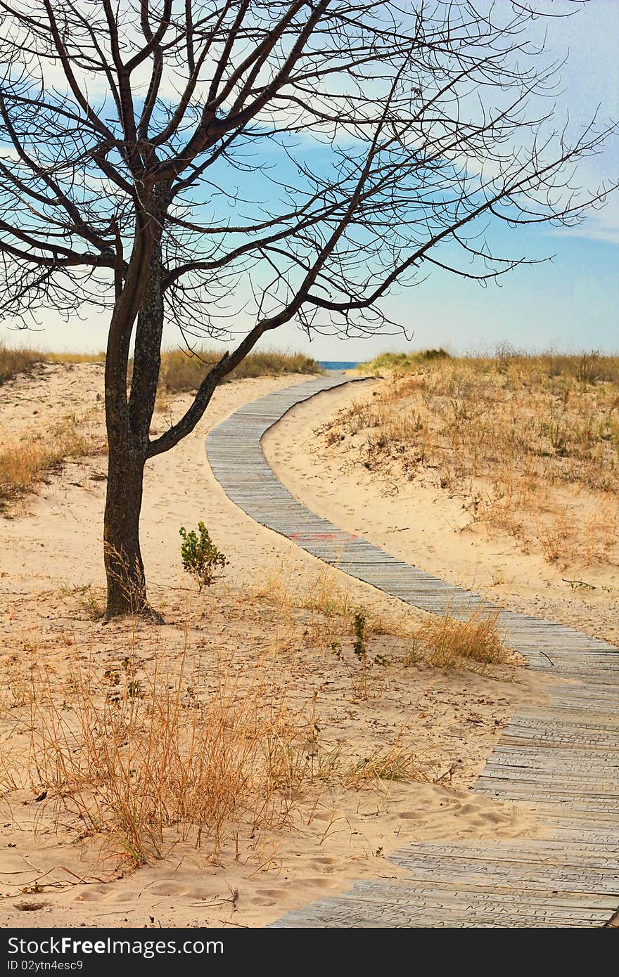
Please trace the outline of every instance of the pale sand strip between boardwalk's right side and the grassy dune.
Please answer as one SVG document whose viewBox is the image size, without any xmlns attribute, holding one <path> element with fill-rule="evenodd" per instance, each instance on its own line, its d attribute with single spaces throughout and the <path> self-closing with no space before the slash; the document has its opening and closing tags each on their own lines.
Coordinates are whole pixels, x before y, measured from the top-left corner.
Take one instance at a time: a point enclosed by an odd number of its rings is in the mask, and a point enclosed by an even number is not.
<svg viewBox="0 0 619 977">
<path fill-rule="evenodd" d="M 266 456 L 292 494 L 341 529 L 489 601 L 619 643 L 616 566 L 566 571 L 549 564 L 540 554 L 523 552 L 508 533 L 473 525 L 462 496 L 439 488 L 435 472 L 400 482 L 397 474 L 391 479 L 351 464 L 347 445 L 327 446 L 320 426 L 352 401 L 371 399 L 381 382 L 320 394 L 288 411 L 267 433 Z M 596 589 L 572 589 L 564 577 L 584 577 Z"/>
</svg>

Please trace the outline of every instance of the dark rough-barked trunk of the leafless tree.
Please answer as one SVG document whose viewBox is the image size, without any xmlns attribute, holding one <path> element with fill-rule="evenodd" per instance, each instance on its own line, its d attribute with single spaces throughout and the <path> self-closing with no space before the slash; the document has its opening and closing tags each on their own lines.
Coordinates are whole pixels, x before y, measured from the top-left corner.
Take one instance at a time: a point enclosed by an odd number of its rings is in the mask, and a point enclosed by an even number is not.
<svg viewBox="0 0 619 977">
<path fill-rule="evenodd" d="M 135 283 L 139 288 L 139 311 L 131 377 L 127 399 L 127 362 L 133 319 L 114 329 L 106 358 L 106 422 L 108 428 L 108 491 L 104 520 L 104 559 L 108 580 L 106 616 L 148 614 L 144 563 L 140 551 L 140 511 L 144 466 L 149 457 L 150 428 L 155 409 L 163 330 L 161 232 L 169 203 L 169 187 L 152 188 L 148 200 L 146 244 L 136 240 L 141 260 Z M 128 276 L 125 279 L 127 287 Z M 121 296 L 126 298 L 126 296 Z M 128 302 L 126 303 L 128 304 Z M 121 302 L 117 301 L 121 307 Z M 114 310 L 115 315 L 115 310 Z M 121 341 L 114 341 L 114 333 Z M 120 349 L 121 355 L 118 356 Z"/>
</svg>

